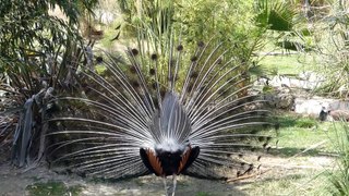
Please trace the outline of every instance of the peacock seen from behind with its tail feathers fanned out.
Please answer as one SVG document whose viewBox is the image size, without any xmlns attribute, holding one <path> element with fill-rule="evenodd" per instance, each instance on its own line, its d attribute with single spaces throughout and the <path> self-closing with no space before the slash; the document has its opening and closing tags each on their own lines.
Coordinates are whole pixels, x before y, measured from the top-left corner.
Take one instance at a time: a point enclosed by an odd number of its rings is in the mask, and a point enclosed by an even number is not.
<svg viewBox="0 0 349 196">
<path fill-rule="evenodd" d="M 77 96 L 58 97 L 63 114 L 51 120 L 50 163 L 103 179 L 180 174 L 226 180 L 257 166 L 244 154 L 267 148 L 272 124 L 262 96 L 251 93 L 245 63 L 227 58 L 221 44 L 181 44 L 167 53 L 128 48 L 125 57 L 103 53 L 94 68 L 77 70 Z"/>
</svg>

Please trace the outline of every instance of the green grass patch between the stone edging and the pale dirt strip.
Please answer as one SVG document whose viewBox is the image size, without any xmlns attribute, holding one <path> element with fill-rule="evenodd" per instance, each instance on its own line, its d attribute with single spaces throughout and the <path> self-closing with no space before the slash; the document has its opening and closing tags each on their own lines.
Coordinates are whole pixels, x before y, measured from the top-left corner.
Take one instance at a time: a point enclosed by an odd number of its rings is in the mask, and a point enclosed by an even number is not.
<svg viewBox="0 0 349 196">
<path fill-rule="evenodd" d="M 282 114 L 278 117 L 280 130 L 276 140 L 277 149 L 270 152 L 275 156 L 291 157 L 302 152 L 302 156 L 336 154 L 332 142 L 336 138 L 333 122 L 320 122 L 312 118 Z M 318 146 L 316 146 L 318 145 Z M 315 147 L 316 146 L 316 147 Z M 312 148 L 313 149 L 309 149 Z"/>
</svg>

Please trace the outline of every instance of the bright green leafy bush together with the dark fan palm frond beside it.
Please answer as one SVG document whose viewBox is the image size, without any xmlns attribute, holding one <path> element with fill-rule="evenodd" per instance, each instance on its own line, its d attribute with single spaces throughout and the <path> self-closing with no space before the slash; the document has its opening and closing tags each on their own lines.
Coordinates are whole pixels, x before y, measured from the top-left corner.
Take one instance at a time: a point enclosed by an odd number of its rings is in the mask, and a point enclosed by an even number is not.
<svg viewBox="0 0 349 196">
<path fill-rule="evenodd" d="M 184 39 L 224 41 L 224 48 L 229 49 L 236 63 L 243 64 L 250 74 L 258 73 L 256 75 L 263 74 L 263 70 L 250 71 L 258 68 L 262 58 L 256 53 L 269 41 L 269 33 L 292 30 L 296 16 L 291 4 L 269 0 L 185 1 L 182 8 L 176 21 L 182 21 Z M 281 21 L 284 26 L 279 26 Z"/>
</svg>

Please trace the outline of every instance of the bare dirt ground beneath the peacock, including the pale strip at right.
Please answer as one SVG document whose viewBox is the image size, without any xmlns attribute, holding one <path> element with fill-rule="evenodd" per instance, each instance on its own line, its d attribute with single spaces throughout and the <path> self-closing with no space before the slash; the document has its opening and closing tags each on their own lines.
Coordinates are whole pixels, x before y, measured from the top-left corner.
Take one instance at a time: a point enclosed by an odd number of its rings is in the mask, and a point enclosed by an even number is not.
<svg viewBox="0 0 349 196">
<path fill-rule="evenodd" d="M 244 195 L 268 195 L 258 194 L 255 183 L 279 181 L 288 175 L 317 173 L 322 170 L 333 168 L 335 159 L 326 156 L 280 158 L 268 156 L 262 159 L 261 174 L 251 175 L 249 179 L 237 182 L 219 182 L 179 176 L 177 188 L 178 196 L 244 196 Z M 164 195 L 164 185 L 160 177 L 143 176 L 128 181 L 118 182 L 94 182 L 84 180 L 76 175 L 63 175 L 39 167 L 27 172 L 22 172 L 0 161 L 0 195 L 22 196 L 31 195 L 26 187 L 37 182 L 59 181 L 65 186 L 80 185 L 79 195 L 82 196 L 109 196 L 109 195 Z M 264 188 L 264 187 L 263 187 Z M 52 193 L 51 195 L 57 195 Z M 58 194 L 60 195 L 60 194 Z M 72 195 L 67 193 L 65 195 Z M 270 195 L 274 195 L 270 193 Z"/>
</svg>

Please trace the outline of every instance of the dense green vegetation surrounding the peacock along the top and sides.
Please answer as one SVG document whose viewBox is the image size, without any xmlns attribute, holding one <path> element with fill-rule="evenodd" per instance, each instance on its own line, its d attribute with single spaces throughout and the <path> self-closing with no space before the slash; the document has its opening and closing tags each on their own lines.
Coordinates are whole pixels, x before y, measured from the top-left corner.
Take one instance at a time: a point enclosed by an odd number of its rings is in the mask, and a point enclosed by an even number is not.
<svg viewBox="0 0 349 196">
<path fill-rule="evenodd" d="M 106 74 L 96 65 L 101 60 L 100 52 L 94 50 L 96 44 L 113 52 L 120 51 L 116 46 L 125 42 L 143 46 L 141 52 L 156 51 L 166 61 L 169 41 L 181 42 L 186 50 L 194 51 L 197 41 L 209 40 L 221 44 L 234 63 L 243 65 L 240 72 L 246 73 L 251 81 L 277 74 L 261 65 L 264 53 L 292 50 L 312 57 L 312 66 L 306 70 L 317 70 L 326 78 L 317 94 L 348 98 L 349 3 L 346 1 L 116 2 L 112 11 L 118 17 L 110 24 L 101 24 L 94 12 L 110 4 L 109 1 L 1 0 L 0 147 L 12 146 L 14 166 L 29 167 L 43 160 L 47 120 L 57 112 L 51 100 L 82 91 L 79 71 L 96 68 L 98 73 Z M 52 15 L 55 8 L 65 19 Z M 98 27 L 101 30 L 94 33 L 99 37 L 91 36 L 91 30 Z M 60 110 L 69 112 L 67 108 Z M 346 146 L 348 143 L 340 148 L 341 173 L 333 177 L 333 192 L 338 195 L 349 192 L 345 189 L 349 170 Z"/>
</svg>

